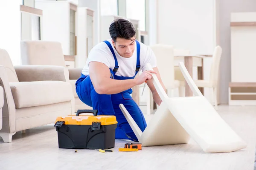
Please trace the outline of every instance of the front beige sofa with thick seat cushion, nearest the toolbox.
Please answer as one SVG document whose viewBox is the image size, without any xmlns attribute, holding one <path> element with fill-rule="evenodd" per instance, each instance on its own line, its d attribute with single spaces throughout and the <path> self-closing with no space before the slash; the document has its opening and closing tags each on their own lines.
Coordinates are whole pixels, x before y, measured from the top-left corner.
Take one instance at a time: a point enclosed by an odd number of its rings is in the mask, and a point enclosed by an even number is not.
<svg viewBox="0 0 256 170">
<path fill-rule="evenodd" d="M 0 49 L 0 86 L 4 91 L 0 136 L 12 142 L 17 131 L 54 123 L 58 116 L 74 114 L 74 95 L 67 68 L 47 65 L 13 66 Z"/>
</svg>

